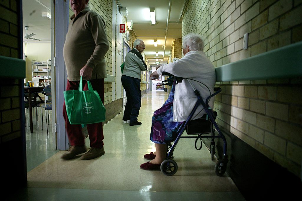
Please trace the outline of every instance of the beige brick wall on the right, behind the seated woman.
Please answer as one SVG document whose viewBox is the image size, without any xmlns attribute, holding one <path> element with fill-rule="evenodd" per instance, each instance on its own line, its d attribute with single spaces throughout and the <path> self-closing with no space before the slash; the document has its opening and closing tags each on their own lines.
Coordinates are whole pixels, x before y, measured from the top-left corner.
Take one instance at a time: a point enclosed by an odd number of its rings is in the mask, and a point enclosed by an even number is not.
<svg viewBox="0 0 302 201">
<path fill-rule="evenodd" d="M 302 41 L 300 0 L 189 0 L 185 8 L 182 35 L 201 34 L 215 67 Z M 245 33 L 249 33 L 247 50 L 243 50 Z M 217 86 L 223 89 L 214 106 L 220 126 L 300 177 L 300 79 Z"/>
</svg>

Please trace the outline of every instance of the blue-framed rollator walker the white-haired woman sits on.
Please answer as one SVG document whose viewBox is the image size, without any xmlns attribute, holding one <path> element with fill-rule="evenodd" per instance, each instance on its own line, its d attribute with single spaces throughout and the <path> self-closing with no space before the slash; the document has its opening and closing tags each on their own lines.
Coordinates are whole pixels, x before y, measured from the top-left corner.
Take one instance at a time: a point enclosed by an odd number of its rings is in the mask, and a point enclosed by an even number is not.
<svg viewBox="0 0 302 201">
<path fill-rule="evenodd" d="M 220 128 L 218 127 L 217 123 L 215 122 L 215 119 L 217 117 L 217 112 L 213 111 L 211 109 L 211 107 L 208 105 L 210 98 L 217 95 L 218 93 L 220 93 L 221 88 L 215 87 L 214 93 L 210 94 L 210 96 L 207 97 L 206 102 L 204 102 L 202 97 L 200 96 L 199 91 L 195 88 L 195 86 L 193 85 L 193 83 L 191 82 L 190 79 L 176 77 L 176 76 L 173 76 L 166 72 L 163 72 L 162 76 L 170 76 L 169 79 L 162 81 L 162 85 L 172 85 L 174 80 L 176 80 L 175 84 L 178 84 L 178 83 L 182 82 L 183 79 L 187 79 L 188 82 L 190 83 L 192 89 L 194 90 L 194 93 L 197 96 L 198 100 L 197 100 L 193 110 L 191 111 L 190 115 L 188 116 L 187 120 L 178 129 L 177 138 L 174 141 L 173 145 L 170 143 L 168 144 L 167 159 L 162 162 L 162 164 L 160 166 L 161 171 L 167 176 L 172 176 L 177 172 L 177 169 L 178 169 L 177 163 L 172 158 L 173 158 L 173 152 L 174 152 L 175 147 L 180 138 L 196 138 L 195 148 L 197 150 L 201 150 L 201 147 L 202 147 L 201 138 L 211 138 L 210 154 L 211 154 L 212 160 L 214 158 L 214 154 L 215 154 L 215 150 L 216 150 L 214 139 L 222 138 L 222 140 L 223 140 L 223 158 L 221 158 L 217 161 L 214 170 L 215 170 L 215 173 L 217 176 L 223 176 L 223 174 L 226 172 L 226 165 L 228 163 L 228 157 L 226 154 L 226 138 L 224 137 L 223 133 L 221 132 Z M 200 104 L 204 107 L 206 114 L 204 114 L 201 118 L 191 120 L 192 118 L 194 118 L 193 115 Z M 195 136 L 182 136 L 182 134 L 185 130 L 188 135 L 195 135 Z M 215 135 L 215 131 L 219 135 Z M 205 135 L 205 134 L 211 134 L 211 135 Z M 197 148 L 198 140 L 201 141 L 201 145 L 199 148 Z"/>
</svg>

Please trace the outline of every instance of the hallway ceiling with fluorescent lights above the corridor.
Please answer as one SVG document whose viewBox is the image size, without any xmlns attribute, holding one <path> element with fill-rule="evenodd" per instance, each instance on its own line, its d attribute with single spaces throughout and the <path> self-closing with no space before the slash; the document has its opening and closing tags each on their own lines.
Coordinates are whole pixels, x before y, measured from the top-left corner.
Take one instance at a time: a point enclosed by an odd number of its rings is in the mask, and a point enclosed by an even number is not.
<svg viewBox="0 0 302 201">
<path fill-rule="evenodd" d="M 126 7 L 128 10 L 128 20 L 132 20 L 132 31 L 139 39 L 142 39 L 146 45 L 144 53 L 148 58 L 150 65 L 156 65 L 155 52 L 157 51 L 159 61 L 162 63 L 162 54 L 164 52 L 165 35 L 167 28 L 167 19 L 169 11 L 169 0 L 152 0 L 152 1 L 137 1 L 137 0 L 117 0 L 120 6 Z M 170 22 L 176 22 L 181 19 L 182 8 L 185 0 L 173 0 L 170 11 Z M 155 8 L 155 17 L 158 24 L 152 26 L 149 24 L 150 11 L 149 8 Z M 182 24 L 169 23 L 166 48 L 165 61 L 171 51 L 173 39 L 182 37 Z M 154 39 L 157 40 L 157 47 L 154 47 Z M 150 59 L 154 58 L 154 59 Z"/>
</svg>

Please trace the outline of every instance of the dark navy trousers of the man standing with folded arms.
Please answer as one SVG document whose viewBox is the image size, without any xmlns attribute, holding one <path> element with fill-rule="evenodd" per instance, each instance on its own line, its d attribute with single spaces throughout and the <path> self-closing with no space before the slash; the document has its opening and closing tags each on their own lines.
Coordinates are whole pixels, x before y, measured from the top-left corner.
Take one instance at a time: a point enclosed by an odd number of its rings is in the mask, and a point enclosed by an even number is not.
<svg viewBox="0 0 302 201">
<path fill-rule="evenodd" d="M 140 106 L 142 105 L 140 79 L 122 75 L 122 85 L 127 97 L 123 120 L 130 120 L 130 123 L 133 123 L 137 121 Z"/>
</svg>

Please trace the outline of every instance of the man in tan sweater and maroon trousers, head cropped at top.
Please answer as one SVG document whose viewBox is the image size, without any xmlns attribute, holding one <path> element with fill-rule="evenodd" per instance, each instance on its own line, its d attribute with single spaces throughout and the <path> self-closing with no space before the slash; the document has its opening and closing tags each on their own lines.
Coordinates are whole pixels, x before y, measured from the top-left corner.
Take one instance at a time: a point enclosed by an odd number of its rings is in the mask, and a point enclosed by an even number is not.
<svg viewBox="0 0 302 201">
<path fill-rule="evenodd" d="M 74 15 L 71 16 L 63 49 L 68 75 L 66 90 L 77 90 L 82 76 L 90 80 L 93 89 L 97 90 L 104 102 L 104 78 L 107 77 L 104 56 L 109 49 L 109 42 L 103 18 L 89 9 L 88 1 L 70 0 Z M 84 90 L 88 89 L 86 81 L 83 86 Z M 62 158 L 71 159 L 86 152 L 85 141 L 81 125 L 70 125 L 65 103 L 63 116 L 71 147 Z M 87 130 L 90 149 L 81 156 L 82 160 L 93 159 L 105 153 L 102 123 L 88 124 Z"/>
</svg>

